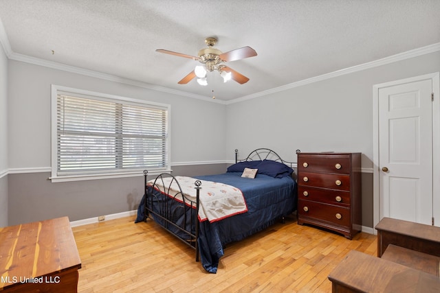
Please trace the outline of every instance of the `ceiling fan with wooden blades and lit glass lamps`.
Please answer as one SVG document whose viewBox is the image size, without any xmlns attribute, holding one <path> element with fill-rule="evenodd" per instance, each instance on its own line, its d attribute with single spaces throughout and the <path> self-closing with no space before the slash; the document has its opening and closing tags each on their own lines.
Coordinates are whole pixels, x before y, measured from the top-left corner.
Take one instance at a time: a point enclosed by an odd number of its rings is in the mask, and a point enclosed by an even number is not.
<svg viewBox="0 0 440 293">
<path fill-rule="evenodd" d="M 187 84 L 193 78 L 197 77 L 197 82 L 199 82 L 199 84 L 207 85 L 208 82 L 206 81 L 206 73 L 208 71 L 211 72 L 214 70 L 220 72 L 220 75 L 223 78 L 224 82 L 227 82 L 228 80 L 231 79 L 238 82 L 239 84 L 244 84 L 248 82 L 249 78 L 245 77 L 245 75 L 241 73 L 238 73 L 237 71 L 234 71 L 234 69 L 224 65 L 223 62 L 230 62 L 230 61 L 241 60 L 244 58 L 256 56 L 256 51 L 254 49 L 252 49 L 251 47 L 242 47 L 239 49 L 234 49 L 232 51 L 222 53 L 219 49 L 214 48 L 214 45 L 217 43 L 217 38 L 212 38 L 212 37 L 206 38 L 205 43 L 206 45 L 208 45 L 208 48 L 201 49 L 197 57 L 181 54 L 173 51 L 168 51 L 164 49 L 157 49 L 156 51 L 159 53 L 190 58 L 192 60 L 199 61 L 201 62 L 201 64 L 203 64 L 196 66 L 193 71 L 191 71 L 188 75 L 186 75 L 179 82 L 177 82 L 178 84 Z"/>
</svg>

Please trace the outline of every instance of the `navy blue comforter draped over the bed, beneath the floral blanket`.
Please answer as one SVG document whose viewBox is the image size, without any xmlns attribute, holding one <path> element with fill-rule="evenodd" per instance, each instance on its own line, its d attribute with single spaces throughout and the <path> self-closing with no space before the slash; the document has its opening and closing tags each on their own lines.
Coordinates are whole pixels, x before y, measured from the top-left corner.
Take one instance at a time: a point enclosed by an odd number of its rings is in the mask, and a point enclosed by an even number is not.
<svg viewBox="0 0 440 293">
<path fill-rule="evenodd" d="M 217 272 L 225 244 L 262 231 L 279 218 L 296 210 L 296 183 L 289 176 L 273 178 L 265 174 L 257 174 L 256 178 L 251 179 L 242 178 L 241 172 L 227 172 L 195 178 L 239 188 L 248 205 L 247 213 L 233 215 L 218 222 L 200 223 L 198 239 L 200 257 L 203 268 L 208 272 Z M 136 222 L 144 219 L 142 202 L 137 211 Z"/>
</svg>

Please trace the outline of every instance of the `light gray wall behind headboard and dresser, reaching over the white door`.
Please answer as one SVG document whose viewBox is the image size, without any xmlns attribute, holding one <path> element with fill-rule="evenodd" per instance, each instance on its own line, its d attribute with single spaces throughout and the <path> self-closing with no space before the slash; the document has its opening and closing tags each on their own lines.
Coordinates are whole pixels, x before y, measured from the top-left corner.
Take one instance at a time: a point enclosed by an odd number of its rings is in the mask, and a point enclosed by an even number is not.
<svg viewBox="0 0 440 293">
<path fill-rule="evenodd" d="M 362 152 L 362 225 L 373 227 L 373 84 L 437 71 L 438 51 L 230 104 L 227 148 L 269 147 L 294 162 L 297 149 Z"/>
</svg>

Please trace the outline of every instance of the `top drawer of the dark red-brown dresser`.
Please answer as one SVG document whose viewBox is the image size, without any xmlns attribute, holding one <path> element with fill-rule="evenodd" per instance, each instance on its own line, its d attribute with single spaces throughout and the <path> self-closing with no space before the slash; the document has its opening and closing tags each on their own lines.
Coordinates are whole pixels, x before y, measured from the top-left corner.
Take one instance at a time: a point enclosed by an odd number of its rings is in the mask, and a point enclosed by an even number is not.
<svg viewBox="0 0 440 293">
<path fill-rule="evenodd" d="M 301 155 L 298 157 L 298 172 L 350 174 L 350 157 L 346 155 Z"/>
</svg>

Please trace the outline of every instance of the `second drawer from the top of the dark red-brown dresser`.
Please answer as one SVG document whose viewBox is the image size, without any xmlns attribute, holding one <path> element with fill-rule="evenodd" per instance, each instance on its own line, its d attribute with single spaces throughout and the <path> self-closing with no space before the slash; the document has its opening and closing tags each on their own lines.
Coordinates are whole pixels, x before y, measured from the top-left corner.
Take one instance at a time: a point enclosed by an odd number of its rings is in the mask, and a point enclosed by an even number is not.
<svg viewBox="0 0 440 293">
<path fill-rule="evenodd" d="M 350 176 L 342 174 L 320 174 L 301 172 L 298 175 L 298 185 L 350 190 Z"/>
</svg>

